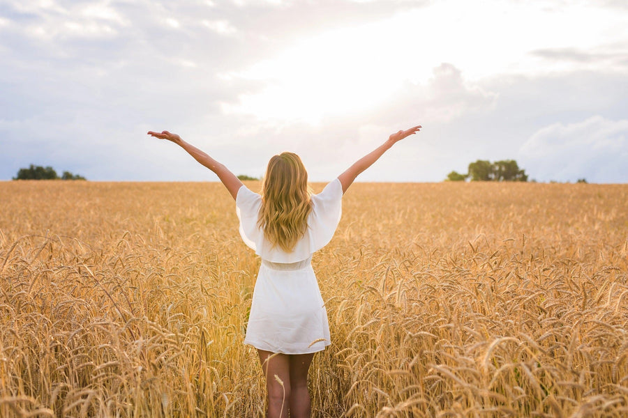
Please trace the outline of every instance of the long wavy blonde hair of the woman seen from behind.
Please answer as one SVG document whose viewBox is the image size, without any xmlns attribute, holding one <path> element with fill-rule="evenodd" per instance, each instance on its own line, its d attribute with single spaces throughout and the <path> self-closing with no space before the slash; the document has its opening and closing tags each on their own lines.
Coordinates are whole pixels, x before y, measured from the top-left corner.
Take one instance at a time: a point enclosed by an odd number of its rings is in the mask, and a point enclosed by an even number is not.
<svg viewBox="0 0 628 418">
<path fill-rule="evenodd" d="M 312 211 L 308 172 L 299 155 L 281 153 L 268 162 L 257 224 L 276 247 L 291 252 L 308 228 Z"/>
</svg>

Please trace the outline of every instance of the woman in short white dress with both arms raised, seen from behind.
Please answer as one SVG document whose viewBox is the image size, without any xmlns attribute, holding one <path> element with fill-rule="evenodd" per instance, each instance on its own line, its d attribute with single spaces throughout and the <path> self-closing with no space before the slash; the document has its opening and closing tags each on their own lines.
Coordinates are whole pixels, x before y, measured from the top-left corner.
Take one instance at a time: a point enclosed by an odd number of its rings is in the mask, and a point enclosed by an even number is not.
<svg viewBox="0 0 628 418">
<path fill-rule="evenodd" d="M 308 191 L 308 175 L 293 153 L 271 158 L 262 193 L 251 192 L 209 155 L 168 131 L 152 132 L 184 148 L 227 187 L 236 201 L 240 235 L 262 258 L 244 342 L 257 349 L 266 376 L 268 417 L 309 417 L 308 370 L 314 353 L 329 346 L 327 311 L 312 270 L 312 254 L 327 245 L 341 217 L 341 200 L 362 171 L 391 146 L 419 131 L 391 134 L 319 194 Z"/>
</svg>

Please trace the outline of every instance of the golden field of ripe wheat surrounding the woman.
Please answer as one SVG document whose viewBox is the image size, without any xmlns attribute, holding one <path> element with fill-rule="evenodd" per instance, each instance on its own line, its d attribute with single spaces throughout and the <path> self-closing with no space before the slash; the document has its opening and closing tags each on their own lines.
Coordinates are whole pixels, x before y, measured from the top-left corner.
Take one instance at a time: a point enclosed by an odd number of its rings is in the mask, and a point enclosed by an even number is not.
<svg viewBox="0 0 628 418">
<path fill-rule="evenodd" d="M 313 258 L 313 416 L 626 417 L 627 202 L 354 184 Z M 260 260 L 222 185 L 1 182 L 0 203 L 1 417 L 264 416 Z"/>
</svg>

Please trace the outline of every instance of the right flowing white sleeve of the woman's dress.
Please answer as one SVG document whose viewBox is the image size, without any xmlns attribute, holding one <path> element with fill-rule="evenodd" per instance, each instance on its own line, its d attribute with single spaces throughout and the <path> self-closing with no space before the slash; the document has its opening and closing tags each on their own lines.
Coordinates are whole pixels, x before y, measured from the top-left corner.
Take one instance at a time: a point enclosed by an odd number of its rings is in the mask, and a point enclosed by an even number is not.
<svg viewBox="0 0 628 418">
<path fill-rule="evenodd" d="M 312 252 L 318 251 L 334 236 L 343 212 L 343 186 L 336 178 L 319 194 L 311 197 L 314 207 L 308 224 Z"/>
</svg>

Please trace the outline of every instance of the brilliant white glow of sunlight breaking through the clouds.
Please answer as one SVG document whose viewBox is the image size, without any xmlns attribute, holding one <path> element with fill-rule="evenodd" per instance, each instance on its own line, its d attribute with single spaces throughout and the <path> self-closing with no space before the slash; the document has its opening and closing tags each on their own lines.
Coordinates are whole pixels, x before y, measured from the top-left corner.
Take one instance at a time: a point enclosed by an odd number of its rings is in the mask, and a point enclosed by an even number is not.
<svg viewBox="0 0 628 418">
<path fill-rule="evenodd" d="M 426 82 L 441 63 L 463 68 L 463 77 L 470 80 L 581 69 L 583 63 L 553 58 L 552 49 L 586 52 L 625 38 L 627 28 L 621 15 L 590 5 L 439 1 L 389 20 L 296 40 L 272 59 L 223 75 L 262 85 L 261 91 L 241 95 L 239 104 L 225 104 L 223 110 L 317 124 L 325 116 L 382 104 L 405 82 Z M 550 54 L 534 54 L 539 49 Z"/>
</svg>

